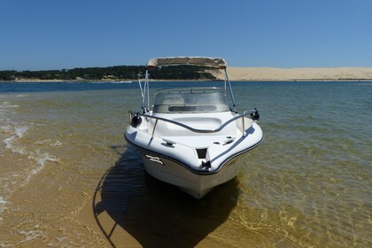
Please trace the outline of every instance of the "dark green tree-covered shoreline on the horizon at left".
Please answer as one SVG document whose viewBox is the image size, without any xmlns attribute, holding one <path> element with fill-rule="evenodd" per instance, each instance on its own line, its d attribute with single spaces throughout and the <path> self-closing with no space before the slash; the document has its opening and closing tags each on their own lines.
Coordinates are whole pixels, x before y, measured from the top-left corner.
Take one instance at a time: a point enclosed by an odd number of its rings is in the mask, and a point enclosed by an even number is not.
<svg viewBox="0 0 372 248">
<path fill-rule="evenodd" d="M 145 66 L 87 67 L 47 71 L 0 71 L 0 81 L 17 80 L 136 80 L 143 78 Z M 203 66 L 163 66 L 150 71 L 157 80 L 215 80 Z"/>
</svg>

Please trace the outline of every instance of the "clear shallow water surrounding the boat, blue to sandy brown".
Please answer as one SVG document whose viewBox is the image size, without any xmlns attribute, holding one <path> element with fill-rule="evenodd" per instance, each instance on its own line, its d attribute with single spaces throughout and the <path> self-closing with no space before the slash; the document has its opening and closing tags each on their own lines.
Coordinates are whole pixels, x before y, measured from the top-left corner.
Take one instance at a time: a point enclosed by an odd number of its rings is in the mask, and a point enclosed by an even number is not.
<svg viewBox="0 0 372 248">
<path fill-rule="evenodd" d="M 372 82 L 233 85 L 266 139 L 197 201 L 123 139 L 136 82 L 0 83 L 0 247 L 371 247 Z"/>
</svg>

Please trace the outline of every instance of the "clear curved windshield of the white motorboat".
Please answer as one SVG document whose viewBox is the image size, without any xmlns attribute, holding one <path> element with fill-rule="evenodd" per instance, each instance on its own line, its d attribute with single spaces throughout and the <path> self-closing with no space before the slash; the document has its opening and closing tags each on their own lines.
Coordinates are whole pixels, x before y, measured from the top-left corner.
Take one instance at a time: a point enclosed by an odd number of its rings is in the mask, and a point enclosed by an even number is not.
<svg viewBox="0 0 372 248">
<path fill-rule="evenodd" d="M 227 112 L 223 89 L 162 89 L 155 93 L 153 112 Z"/>
</svg>

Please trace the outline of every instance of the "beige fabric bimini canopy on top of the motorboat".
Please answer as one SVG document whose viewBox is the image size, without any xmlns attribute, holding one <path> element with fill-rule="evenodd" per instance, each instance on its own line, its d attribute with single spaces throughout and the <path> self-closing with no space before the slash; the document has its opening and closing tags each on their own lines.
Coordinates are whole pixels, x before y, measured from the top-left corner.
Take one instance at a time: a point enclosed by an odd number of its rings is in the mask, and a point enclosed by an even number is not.
<svg viewBox="0 0 372 248">
<path fill-rule="evenodd" d="M 227 63 L 223 58 L 208 58 L 208 57 L 167 57 L 167 58 L 151 58 L 147 62 L 147 68 L 152 69 L 156 66 L 177 66 L 177 65 L 194 65 L 194 66 L 210 66 L 220 69 L 225 69 Z"/>
</svg>

